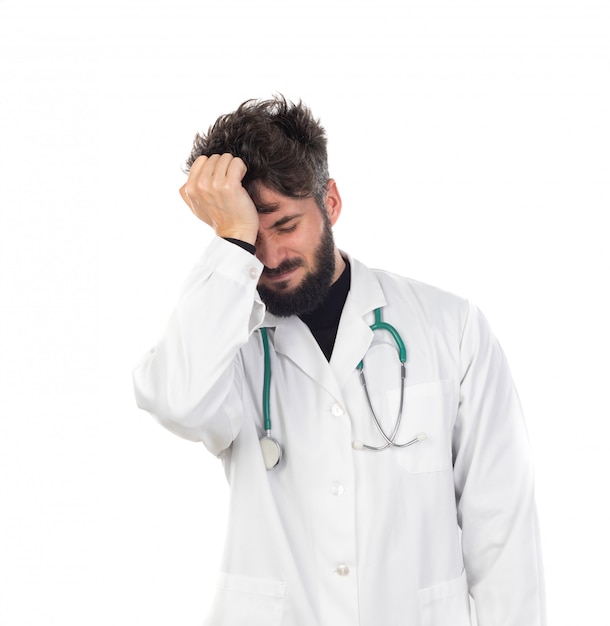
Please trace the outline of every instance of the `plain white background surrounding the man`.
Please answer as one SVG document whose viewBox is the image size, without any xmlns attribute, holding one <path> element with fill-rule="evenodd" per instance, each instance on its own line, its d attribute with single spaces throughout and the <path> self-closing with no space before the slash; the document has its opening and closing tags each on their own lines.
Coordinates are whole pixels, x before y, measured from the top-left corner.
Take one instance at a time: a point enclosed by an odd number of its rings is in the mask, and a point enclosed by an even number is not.
<svg viewBox="0 0 610 626">
<path fill-rule="evenodd" d="M 0 624 L 201 624 L 224 477 L 131 369 L 210 239 L 195 132 L 275 92 L 327 128 L 340 247 L 491 321 L 550 623 L 607 623 L 608 3 L 0 0 Z"/>
</svg>

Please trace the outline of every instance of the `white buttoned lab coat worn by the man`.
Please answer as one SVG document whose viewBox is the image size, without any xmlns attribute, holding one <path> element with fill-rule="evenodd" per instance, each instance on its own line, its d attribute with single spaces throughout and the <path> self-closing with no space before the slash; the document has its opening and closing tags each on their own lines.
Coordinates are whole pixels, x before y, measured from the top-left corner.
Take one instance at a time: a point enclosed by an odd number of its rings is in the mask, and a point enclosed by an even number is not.
<svg viewBox="0 0 610 626">
<path fill-rule="evenodd" d="M 517 393 L 479 311 L 350 259 L 330 363 L 296 317 L 266 313 L 261 263 L 215 239 L 165 338 L 134 372 L 138 404 L 221 457 L 231 487 L 209 626 L 545 624 L 532 467 Z M 392 430 L 400 367 L 383 307 L 408 350 L 403 449 L 380 445 L 356 365 Z M 266 471 L 263 350 L 269 330 L 273 436 Z"/>
</svg>

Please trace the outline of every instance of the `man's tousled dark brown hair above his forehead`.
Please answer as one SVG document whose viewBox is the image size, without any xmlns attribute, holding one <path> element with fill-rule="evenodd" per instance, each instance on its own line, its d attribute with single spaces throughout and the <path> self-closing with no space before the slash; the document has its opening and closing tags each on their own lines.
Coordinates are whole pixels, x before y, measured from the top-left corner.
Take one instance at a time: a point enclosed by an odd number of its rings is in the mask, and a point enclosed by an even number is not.
<svg viewBox="0 0 610 626">
<path fill-rule="evenodd" d="M 246 100 L 222 115 L 207 134 L 197 134 L 186 162 L 229 152 L 243 159 L 248 171 L 242 181 L 259 204 L 262 184 L 291 198 L 314 198 L 324 208 L 328 183 L 326 132 L 302 102 L 278 95 L 271 100 Z"/>
</svg>

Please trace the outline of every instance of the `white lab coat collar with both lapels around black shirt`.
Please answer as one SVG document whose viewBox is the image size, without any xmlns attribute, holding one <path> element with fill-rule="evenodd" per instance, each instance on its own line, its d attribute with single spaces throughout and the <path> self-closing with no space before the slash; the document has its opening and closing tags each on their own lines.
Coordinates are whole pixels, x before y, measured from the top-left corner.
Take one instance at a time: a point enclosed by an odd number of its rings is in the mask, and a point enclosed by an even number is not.
<svg viewBox="0 0 610 626">
<path fill-rule="evenodd" d="M 298 365 L 308 376 L 335 397 L 362 360 L 373 338 L 373 322 L 367 314 L 385 305 L 386 300 L 375 274 L 365 265 L 342 253 L 351 265 L 351 285 L 339 322 L 337 339 L 329 363 L 307 325 L 298 317 L 277 317 L 265 313 L 263 326 L 275 328 L 274 349 Z"/>
</svg>

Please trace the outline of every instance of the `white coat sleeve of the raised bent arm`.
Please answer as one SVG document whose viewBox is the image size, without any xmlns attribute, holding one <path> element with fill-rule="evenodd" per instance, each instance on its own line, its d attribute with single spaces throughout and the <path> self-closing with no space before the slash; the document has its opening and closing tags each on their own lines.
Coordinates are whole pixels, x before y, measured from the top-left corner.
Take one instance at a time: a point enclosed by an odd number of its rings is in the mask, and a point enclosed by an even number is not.
<svg viewBox="0 0 610 626">
<path fill-rule="evenodd" d="M 214 454 L 235 438 L 243 415 L 239 354 L 262 323 L 256 257 L 215 238 L 186 281 L 165 336 L 133 372 L 138 406 Z"/>
</svg>

